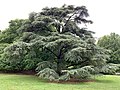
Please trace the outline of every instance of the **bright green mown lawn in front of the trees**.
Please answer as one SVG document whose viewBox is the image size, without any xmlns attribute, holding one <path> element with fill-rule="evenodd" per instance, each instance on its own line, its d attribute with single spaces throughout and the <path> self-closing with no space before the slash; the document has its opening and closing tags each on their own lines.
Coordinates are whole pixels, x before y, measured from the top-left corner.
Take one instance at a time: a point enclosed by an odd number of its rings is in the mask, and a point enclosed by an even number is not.
<svg viewBox="0 0 120 90">
<path fill-rule="evenodd" d="M 0 90 L 120 90 L 120 76 L 96 77 L 96 82 L 56 84 L 36 76 L 0 74 Z"/>
</svg>

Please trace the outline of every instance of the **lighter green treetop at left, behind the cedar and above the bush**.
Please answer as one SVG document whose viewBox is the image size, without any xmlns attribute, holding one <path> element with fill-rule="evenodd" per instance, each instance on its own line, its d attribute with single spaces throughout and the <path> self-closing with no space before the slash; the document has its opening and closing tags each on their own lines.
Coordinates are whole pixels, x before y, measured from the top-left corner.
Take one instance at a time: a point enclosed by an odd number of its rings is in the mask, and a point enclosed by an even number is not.
<svg viewBox="0 0 120 90">
<path fill-rule="evenodd" d="M 19 33 L 17 29 L 19 29 L 23 22 L 23 19 L 15 19 L 9 22 L 9 28 L 1 32 L 0 34 L 0 43 L 13 43 L 16 39 L 19 38 Z"/>
</svg>

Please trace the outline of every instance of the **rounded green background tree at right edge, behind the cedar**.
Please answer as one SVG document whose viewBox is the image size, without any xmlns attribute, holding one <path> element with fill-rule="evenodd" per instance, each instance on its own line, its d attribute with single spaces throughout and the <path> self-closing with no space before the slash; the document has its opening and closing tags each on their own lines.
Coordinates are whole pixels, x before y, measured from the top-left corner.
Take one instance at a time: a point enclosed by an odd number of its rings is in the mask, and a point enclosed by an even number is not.
<svg viewBox="0 0 120 90">
<path fill-rule="evenodd" d="M 98 40 L 97 44 L 111 50 L 109 63 L 120 64 L 120 36 L 118 34 L 105 35 Z"/>
</svg>

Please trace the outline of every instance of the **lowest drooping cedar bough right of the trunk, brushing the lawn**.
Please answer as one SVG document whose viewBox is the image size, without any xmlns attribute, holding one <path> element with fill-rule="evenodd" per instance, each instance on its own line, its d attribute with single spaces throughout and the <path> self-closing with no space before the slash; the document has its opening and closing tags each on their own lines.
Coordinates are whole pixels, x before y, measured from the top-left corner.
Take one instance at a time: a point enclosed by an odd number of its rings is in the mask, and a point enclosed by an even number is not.
<svg viewBox="0 0 120 90">
<path fill-rule="evenodd" d="M 82 68 L 64 70 L 65 74 L 62 75 L 59 80 L 70 80 L 72 79 L 88 79 L 94 73 L 94 69 L 90 66 L 84 66 Z"/>
</svg>

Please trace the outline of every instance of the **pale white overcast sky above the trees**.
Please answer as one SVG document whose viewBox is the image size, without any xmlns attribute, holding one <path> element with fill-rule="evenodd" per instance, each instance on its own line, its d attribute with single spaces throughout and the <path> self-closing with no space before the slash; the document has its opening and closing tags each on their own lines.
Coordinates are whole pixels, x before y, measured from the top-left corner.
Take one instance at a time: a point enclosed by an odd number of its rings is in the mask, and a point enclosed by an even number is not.
<svg viewBox="0 0 120 90">
<path fill-rule="evenodd" d="M 28 18 L 30 12 L 63 4 L 87 7 L 94 22 L 88 28 L 96 32 L 95 37 L 111 32 L 120 34 L 120 0 L 1 0 L 0 30 L 7 28 L 10 20 Z"/>
</svg>

